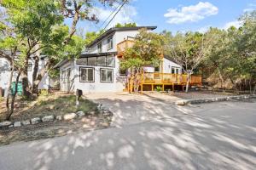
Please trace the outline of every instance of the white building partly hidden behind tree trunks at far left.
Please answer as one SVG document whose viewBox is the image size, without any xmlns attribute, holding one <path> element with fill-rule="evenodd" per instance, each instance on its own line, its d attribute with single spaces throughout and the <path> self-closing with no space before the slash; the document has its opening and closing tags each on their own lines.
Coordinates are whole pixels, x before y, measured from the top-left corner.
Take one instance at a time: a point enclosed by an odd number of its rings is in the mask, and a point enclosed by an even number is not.
<svg viewBox="0 0 256 170">
<path fill-rule="evenodd" d="M 41 56 L 38 63 L 38 72 L 44 68 L 44 65 L 47 62 L 47 58 L 45 56 Z M 34 59 L 29 59 L 28 67 L 27 67 L 27 74 L 28 74 L 28 82 L 32 85 L 32 73 L 34 69 Z M 11 73 L 11 65 L 8 59 L 0 57 L 0 88 L 2 88 L 5 92 L 9 88 L 9 77 Z M 20 81 L 22 76 L 20 77 Z M 14 72 L 13 82 L 16 80 L 16 72 Z M 49 88 L 49 77 L 46 74 L 42 81 L 39 83 L 39 89 L 48 89 Z M 4 93 L 6 95 L 6 93 Z"/>
</svg>

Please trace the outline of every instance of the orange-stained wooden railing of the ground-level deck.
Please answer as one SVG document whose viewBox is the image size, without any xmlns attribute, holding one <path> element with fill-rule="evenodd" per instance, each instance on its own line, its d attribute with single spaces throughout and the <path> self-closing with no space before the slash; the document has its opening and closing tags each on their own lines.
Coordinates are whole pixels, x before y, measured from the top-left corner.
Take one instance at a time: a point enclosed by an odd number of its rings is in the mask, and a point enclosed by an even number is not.
<svg viewBox="0 0 256 170">
<path fill-rule="evenodd" d="M 143 73 L 141 77 L 142 83 L 186 83 L 186 74 L 171 74 L 171 73 Z M 193 84 L 201 84 L 200 75 L 191 75 L 190 82 Z"/>
</svg>

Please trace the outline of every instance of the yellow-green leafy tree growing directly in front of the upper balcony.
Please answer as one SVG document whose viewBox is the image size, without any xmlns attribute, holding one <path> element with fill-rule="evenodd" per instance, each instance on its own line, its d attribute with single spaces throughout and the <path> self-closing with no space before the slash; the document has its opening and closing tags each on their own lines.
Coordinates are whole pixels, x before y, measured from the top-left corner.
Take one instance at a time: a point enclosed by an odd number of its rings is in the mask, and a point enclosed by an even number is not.
<svg viewBox="0 0 256 170">
<path fill-rule="evenodd" d="M 137 92 L 139 88 L 140 77 L 143 74 L 143 66 L 160 65 L 163 52 L 162 46 L 162 36 L 142 29 L 135 38 L 134 45 L 125 50 L 125 54 L 120 60 L 120 66 L 122 69 L 130 70 L 130 80 L 135 92 Z"/>
</svg>

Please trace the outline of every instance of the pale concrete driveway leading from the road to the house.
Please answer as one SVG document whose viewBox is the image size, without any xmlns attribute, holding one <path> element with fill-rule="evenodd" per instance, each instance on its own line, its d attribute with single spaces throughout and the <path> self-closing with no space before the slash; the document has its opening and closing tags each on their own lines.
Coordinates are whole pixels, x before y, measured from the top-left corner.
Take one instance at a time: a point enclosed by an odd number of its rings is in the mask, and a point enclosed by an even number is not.
<svg viewBox="0 0 256 170">
<path fill-rule="evenodd" d="M 86 98 L 102 104 L 103 108 L 113 112 L 113 126 L 124 126 L 138 122 L 176 116 L 182 107 L 174 102 L 177 97 L 172 95 L 149 94 L 87 94 Z"/>
</svg>

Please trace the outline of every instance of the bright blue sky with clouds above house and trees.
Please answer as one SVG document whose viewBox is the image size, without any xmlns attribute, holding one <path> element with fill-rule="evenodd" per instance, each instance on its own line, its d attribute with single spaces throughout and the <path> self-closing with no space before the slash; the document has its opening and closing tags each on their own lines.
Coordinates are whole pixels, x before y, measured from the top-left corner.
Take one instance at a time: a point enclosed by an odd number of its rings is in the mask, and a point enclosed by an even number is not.
<svg viewBox="0 0 256 170">
<path fill-rule="evenodd" d="M 122 8 L 110 26 L 136 22 L 138 26 L 158 26 L 156 31 L 205 31 L 209 26 L 239 26 L 236 21 L 239 16 L 253 9 L 256 0 L 133 0 Z M 112 11 L 113 8 L 96 7 L 92 13 L 97 14 L 100 22 L 80 21 L 79 29 L 98 31 Z"/>
</svg>

